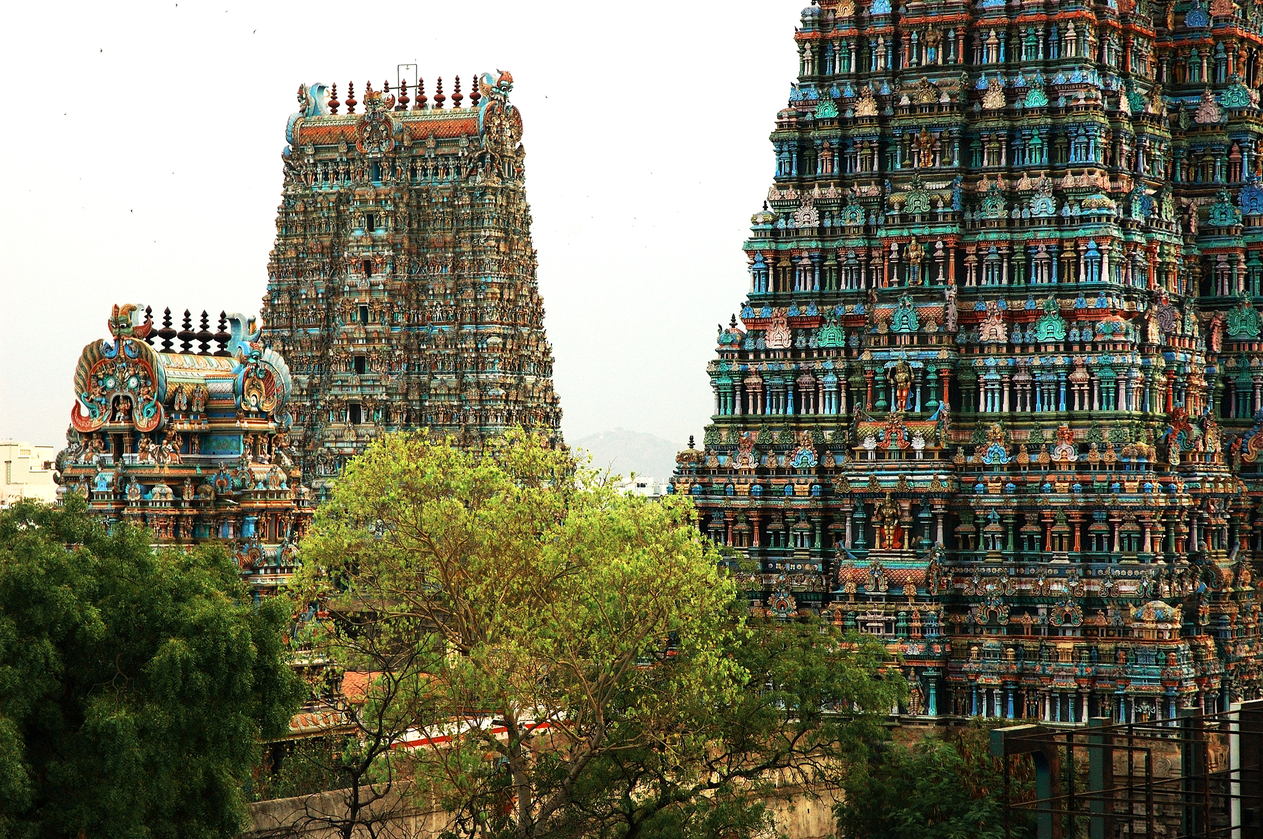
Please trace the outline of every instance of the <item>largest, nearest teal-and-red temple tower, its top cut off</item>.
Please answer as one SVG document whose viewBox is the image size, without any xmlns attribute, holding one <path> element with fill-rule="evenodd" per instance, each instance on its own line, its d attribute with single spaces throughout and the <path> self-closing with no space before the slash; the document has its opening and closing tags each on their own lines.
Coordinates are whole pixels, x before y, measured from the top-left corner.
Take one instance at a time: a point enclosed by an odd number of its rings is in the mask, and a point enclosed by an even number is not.
<svg viewBox="0 0 1263 839">
<path fill-rule="evenodd" d="M 1263 6 L 820 0 L 678 458 L 907 713 L 1259 695 Z"/>
</svg>

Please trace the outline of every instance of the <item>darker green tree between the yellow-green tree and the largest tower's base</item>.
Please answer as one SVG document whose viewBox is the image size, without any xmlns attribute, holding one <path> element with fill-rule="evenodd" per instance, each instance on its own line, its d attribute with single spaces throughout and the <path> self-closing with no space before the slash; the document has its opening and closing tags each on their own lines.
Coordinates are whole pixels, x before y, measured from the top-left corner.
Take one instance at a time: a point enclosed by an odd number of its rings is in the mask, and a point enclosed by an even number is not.
<svg viewBox="0 0 1263 839">
<path fill-rule="evenodd" d="M 753 618 L 726 652 L 746 672 L 734 701 L 682 708 L 664 746 L 599 760 L 558 835 L 770 835 L 768 802 L 836 785 L 906 693 L 880 641 L 813 618 Z"/>
</svg>

